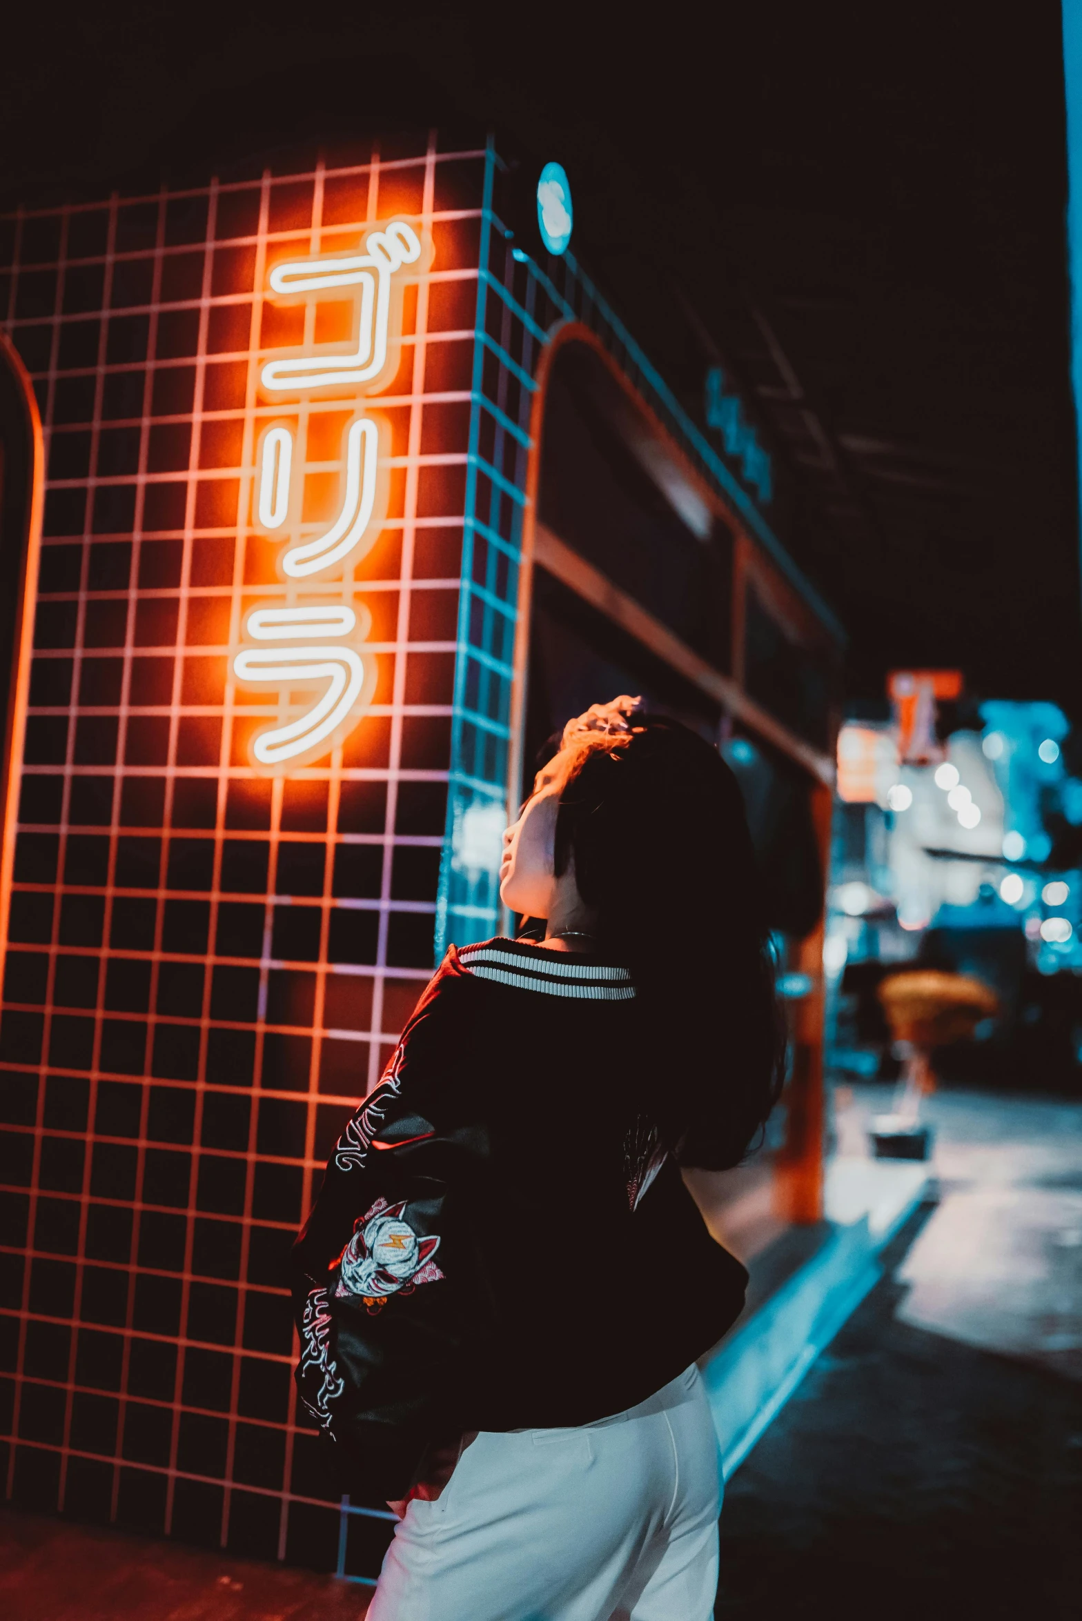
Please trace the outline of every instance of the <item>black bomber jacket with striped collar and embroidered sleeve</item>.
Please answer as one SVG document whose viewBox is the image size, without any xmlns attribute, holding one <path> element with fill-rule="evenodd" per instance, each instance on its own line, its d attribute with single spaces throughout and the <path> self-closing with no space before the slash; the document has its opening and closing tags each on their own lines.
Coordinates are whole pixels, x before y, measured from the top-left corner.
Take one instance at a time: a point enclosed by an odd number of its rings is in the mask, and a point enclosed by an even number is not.
<svg viewBox="0 0 1082 1621">
<path fill-rule="evenodd" d="M 292 1251 L 297 1384 L 344 1491 L 402 1496 L 464 1430 L 621 1412 L 735 1321 L 746 1272 L 657 1148 L 642 1050 L 626 969 L 449 948 Z"/>
</svg>

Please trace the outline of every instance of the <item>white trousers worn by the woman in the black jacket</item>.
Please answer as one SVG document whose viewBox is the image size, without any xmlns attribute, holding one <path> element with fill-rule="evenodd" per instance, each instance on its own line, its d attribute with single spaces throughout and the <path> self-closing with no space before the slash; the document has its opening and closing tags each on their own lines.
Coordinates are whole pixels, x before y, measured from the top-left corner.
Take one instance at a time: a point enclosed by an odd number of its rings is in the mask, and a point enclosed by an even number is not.
<svg viewBox="0 0 1082 1621">
<path fill-rule="evenodd" d="M 694 1363 L 628 1412 L 482 1431 L 414 1499 L 368 1621 L 709 1621 L 720 1467 Z"/>
</svg>

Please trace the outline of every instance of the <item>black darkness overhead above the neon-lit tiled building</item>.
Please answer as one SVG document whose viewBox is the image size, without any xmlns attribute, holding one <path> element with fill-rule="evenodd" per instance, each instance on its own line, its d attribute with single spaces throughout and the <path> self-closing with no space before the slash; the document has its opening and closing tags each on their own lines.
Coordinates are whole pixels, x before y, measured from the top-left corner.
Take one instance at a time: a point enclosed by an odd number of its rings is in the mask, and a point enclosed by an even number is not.
<svg viewBox="0 0 1082 1621">
<path fill-rule="evenodd" d="M 962 665 L 1082 708 L 1058 5 L 305 11 L 21 6 L 0 188 L 492 122 L 565 162 L 579 258 L 688 405 L 712 353 L 741 378 L 852 694 Z"/>
</svg>

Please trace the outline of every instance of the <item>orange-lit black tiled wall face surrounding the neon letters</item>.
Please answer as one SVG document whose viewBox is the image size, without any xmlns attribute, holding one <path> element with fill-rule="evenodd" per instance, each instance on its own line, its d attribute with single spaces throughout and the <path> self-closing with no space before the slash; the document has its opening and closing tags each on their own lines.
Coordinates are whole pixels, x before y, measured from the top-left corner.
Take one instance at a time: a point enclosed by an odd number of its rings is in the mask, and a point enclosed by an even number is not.
<svg viewBox="0 0 1082 1621">
<path fill-rule="evenodd" d="M 284 1258 L 432 971 L 485 169 L 430 139 L 0 224 L 47 446 L 0 1023 L 6 1491 L 362 1577 L 389 1516 L 339 1512 L 295 1410 Z M 279 712 L 230 673 L 284 593 L 256 438 L 295 418 L 318 522 L 350 408 L 258 394 L 268 353 L 346 336 L 341 306 L 269 302 L 268 263 L 393 216 L 433 263 L 371 402 L 386 524 L 336 587 L 376 689 L 324 760 L 260 776 Z"/>
</svg>

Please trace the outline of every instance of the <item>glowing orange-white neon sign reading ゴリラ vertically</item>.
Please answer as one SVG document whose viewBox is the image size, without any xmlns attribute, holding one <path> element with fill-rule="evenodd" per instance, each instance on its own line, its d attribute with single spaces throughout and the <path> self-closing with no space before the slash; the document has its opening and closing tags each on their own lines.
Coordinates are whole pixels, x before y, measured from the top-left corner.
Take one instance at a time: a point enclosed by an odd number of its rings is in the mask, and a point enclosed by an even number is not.
<svg viewBox="0 0 1082 1621">
<path fill-rule="evenodd" d="M 313 254 L 276 264 L 268 280 L 277 298 L 310 300 L 349 289 L 354 337 L 346 350 L 320 345 L 266 361 L 260 371 L 264 396 L 281 400 L 282 394 L 310 396 L 344 386 L 363 394 L 386 387 L 401 340 L 401 272 L 407 266 L 423 269 L 425 261 L 414 227 L 391 220 L 367 232 L 363 253 Z M 298 431 L 290 421 L 264 430 L 255 481 L 255 520 L 266 535 L 286 543 L 277 566 L 282 580 L 292 585 L 289 601 L 248 613 L 247 645 L 232 660 L 242 686 L 276 687 L 290 710 L 282 725 L 253 739 L 251 760 L 261 772 L 295 768 L 324 755 L 355 728 L 376 682 L 375 660 L 359 650 L 370 618 L 352 605 L 350 588 L 342 584 L 339 600 L 328 601 L 323 592 L 302 597 L 300 585 L 360 561 L 375 543 L 383 520 L 388 436 L 376 418 L 362 412 L 347 423 L 337 515 L 326 528 L 302 538 L 303 473 L 297 478 L 295 468 L 303 468 L 305 447 L 297 443 Z M 295 692 L 313 694 L 302 713 L 292 712 Z"/>
</svg>

